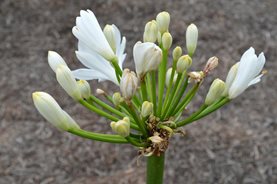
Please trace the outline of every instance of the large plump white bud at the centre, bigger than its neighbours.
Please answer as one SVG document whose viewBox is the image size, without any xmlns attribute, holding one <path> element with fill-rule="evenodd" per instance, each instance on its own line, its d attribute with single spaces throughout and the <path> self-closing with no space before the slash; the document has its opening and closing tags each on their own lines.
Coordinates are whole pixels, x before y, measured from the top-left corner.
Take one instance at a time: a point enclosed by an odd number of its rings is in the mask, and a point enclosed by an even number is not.
<svg viewBox="0 0 277 184">
<path fill-rule="evenodd" d="M 157 70 L 162 60 L 162 50 L 154 43 L 137 42 L 133 49 L 136 73 L 141 78 L 148 71 Z"/>
</svg>

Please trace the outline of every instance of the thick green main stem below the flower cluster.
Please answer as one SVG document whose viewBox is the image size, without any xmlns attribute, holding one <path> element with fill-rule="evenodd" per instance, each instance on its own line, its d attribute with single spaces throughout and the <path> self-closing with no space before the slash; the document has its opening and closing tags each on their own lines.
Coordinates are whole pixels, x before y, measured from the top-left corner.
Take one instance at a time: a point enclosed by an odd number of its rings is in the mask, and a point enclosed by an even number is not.
<svg viewBox="0 0 277 184">
<path fill-rule="evenodd" d="M 164 173 L 164 153 L 147 158 L 147 184 L 162 184 Z"/>
</svg>

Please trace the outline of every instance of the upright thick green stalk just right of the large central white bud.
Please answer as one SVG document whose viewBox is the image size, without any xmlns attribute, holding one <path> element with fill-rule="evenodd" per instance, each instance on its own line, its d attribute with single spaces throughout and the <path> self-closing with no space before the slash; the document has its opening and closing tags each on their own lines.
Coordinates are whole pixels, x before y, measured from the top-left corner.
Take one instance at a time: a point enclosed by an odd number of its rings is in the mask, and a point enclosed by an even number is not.
<svg viewBox="0 0 277 184">
<path fill-rule="evenodd" d="M 163 95 L 164 95 L 164 86 L 165 86 L 165 73 L 166 73 L 166 65 L 167 65 L 167 55 L 168 51 L 163 50 L 163 58 L 162 63 L 159 67 L 159 94 L 158 94 L 158 110 L 157 110 L 157 116 L 159 117 L 162 112 L 162 106 L 163 106 Z"/>
</svg>

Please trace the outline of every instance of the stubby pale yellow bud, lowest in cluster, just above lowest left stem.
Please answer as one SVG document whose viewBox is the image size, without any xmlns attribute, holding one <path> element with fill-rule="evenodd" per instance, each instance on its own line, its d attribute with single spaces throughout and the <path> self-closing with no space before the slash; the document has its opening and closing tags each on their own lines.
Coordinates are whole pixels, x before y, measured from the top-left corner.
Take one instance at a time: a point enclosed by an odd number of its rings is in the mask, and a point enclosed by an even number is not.
<svg viewBox="0 0 277 184">
<path fill-rule="evenodd" d="M 127 137 L 130 134 L 130 120 L 128 117 L 117 122 L 111 122 L 112 130 L 122 137 Z"/>
</svg>

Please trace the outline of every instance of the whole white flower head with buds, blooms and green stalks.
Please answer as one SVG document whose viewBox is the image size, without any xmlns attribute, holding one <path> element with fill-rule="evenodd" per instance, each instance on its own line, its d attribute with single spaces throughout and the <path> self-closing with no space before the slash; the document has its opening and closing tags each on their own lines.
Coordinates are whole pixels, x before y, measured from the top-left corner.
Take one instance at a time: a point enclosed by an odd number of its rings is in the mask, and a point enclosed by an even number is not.
<svg viewBox="0 0 277 184">
<path fill-rule="evenodd" d="M 71 71 L 64 59 L 49 51 L 48 63 L 58 83 L 75 101 L 108 119 L 115 134 L 100 134 L 81 129 L 45 92 L 34 92 L 33 101 L 41 115 L 60 130 L 112 143 L 130 143 L 145 155 L 163 153 L 169 138 L 179 128 L 203 118 L 261 80 L 264 54 L 257 57 L 251 47 L 234 64 L 225 80 L 215 79 L 203 105 L 186 118 L 182 114 L 219 59 L 208 59 L 201 71 L 190 71 L 197 48 L 198 29 L 186 30 L 186 51 L 176 46 L 172 52 L 170 15 L 161 12 L 145 25 L 143 40 L 133 47 L 135 71 L 123 68 L 126 38 L 115 25 L 102 30 L 94 13 L 80 12 L 72 32 L 78 39 L 76 56 L 85 68 Z M 91 93 L 87 80 L 111 81 L 119 88 L 112 93 L 97 89 L 101 100 Z M 102 99 L 103 99 L 102 98 Z"/>
</svg>

